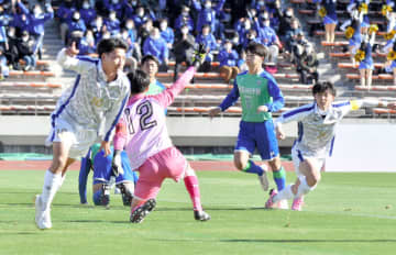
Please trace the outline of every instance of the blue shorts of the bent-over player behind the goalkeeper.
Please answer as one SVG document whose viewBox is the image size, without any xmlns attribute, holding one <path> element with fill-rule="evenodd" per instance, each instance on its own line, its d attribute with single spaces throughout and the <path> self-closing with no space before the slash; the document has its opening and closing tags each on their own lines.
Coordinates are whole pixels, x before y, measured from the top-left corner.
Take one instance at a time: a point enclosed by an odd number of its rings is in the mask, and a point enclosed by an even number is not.
<svg viewBox="0 0 396 255">
<path fill-rule="evenodd" d="M 113 175 L 111 169 L 112 153 L 105 157 L 105 152 L 100 151 L 94 158 L 94 185 L 109 182 L 110 177 Z M 116 184 L 121 184 L 124 181 L 136 182 L 138 174 L 132 171 L 129 158 L 125 152 L 121 153 L 121 164 L 124 170 L 123 175 L 119 175 L 116 178 Z"/>
</svg>

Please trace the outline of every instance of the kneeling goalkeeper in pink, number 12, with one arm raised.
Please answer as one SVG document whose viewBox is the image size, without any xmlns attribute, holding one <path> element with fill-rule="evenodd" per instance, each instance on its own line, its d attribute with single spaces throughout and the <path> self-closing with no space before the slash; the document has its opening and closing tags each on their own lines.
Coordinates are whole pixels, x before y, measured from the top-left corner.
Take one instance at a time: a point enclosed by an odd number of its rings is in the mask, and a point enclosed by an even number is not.
<svg viewBox="0 0 396 255">
<path fill-rule="evenodd" d="M 130 221 L 140 223 L 150 213 L 155 198 L 165 178 L 184 180 L 193 200 L 194 217 L 198 221 L 208 221 L 210 217 L 202 210 L 198 178 L 182 153 L 172 144 L 164 110 L 182 92 L 196 73 L 200 60 L 205 58 L 204 46 L 198 51 L 195 66 L 189 67 L 168 89 L 147 96 L 150 80 L 144 71 L 129 73 L 131 97 L 114 136 L 116 153 L 125 148 L 131 167 L 140 173 L 131 206 Z M 114 165 L 117 165 L 114 163 Z"/>
</svg>

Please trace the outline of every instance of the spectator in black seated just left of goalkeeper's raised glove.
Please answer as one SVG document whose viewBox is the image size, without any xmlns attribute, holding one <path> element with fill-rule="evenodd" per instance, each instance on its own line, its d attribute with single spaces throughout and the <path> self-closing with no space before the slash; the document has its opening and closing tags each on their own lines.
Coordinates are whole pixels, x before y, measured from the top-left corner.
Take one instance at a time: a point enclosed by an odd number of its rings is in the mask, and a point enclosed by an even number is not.
<svg viewBox="0 0 396 255">
<path fill-rule="evenodd" d="M 178 73 L 180 71 L 182 63 L 185 62 L 187 66 L 190 66 L 191 57 L 194 55 L 194 45 L 195 37 L 189 32 L 189 27 L 187 24 L 184 24 L 180 27 L 180 34 L 176 36 L 176 41 L 174 44 L 174 53 L 175 53 L 175 74 L 174 81 L 178 78 Z"/>
</svg>

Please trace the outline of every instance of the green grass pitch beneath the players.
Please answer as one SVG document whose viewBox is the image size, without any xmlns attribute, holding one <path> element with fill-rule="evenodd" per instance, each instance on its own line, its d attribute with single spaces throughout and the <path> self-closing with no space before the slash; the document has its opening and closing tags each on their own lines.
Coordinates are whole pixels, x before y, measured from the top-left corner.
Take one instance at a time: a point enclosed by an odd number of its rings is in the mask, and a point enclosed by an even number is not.
<svg viewBox="0 0 396 255">
<path fill-rule="evenodd" d="M 33 200 L 43 176 L 0 171 L 1 255 L 396 254 L 395 174 L 324 173 L 304 211 L 295 212 L 265 210 L 268 196 L 254 175 L 198 171 L 211 221 L 196 222 L 184 184 L 168 180 L 156 209 L 131 224 L 119 195 L 111 195 L 110 210 L 80 206 L 78 173 L 69 171 L 54 200 L 53 229 L 41 231 Z M 90 185 L 88 198 L 92 204 Z"/>
</svg>

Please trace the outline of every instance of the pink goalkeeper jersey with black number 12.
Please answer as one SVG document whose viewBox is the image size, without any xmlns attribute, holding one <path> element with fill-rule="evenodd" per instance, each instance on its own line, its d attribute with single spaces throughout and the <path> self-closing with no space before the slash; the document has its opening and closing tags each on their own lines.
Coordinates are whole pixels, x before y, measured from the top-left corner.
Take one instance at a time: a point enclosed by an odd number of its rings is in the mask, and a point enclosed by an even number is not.
<svg viewBox="0 0 396 255">
<path fill-rule="evenodd" d="M 114 148 L 125 149 L 131 168 L 138 169 L 148 157 L 173 146 L 166 129 L 165 109 L 194 77 L 189 67 L 168 89 L 155 96 L 140 93 L 129 99 L 117 124 Z"/>
</svg>

